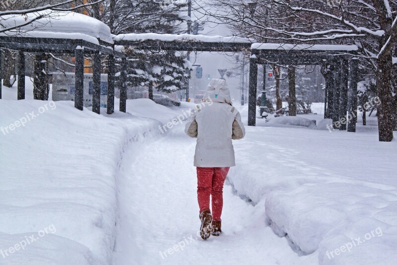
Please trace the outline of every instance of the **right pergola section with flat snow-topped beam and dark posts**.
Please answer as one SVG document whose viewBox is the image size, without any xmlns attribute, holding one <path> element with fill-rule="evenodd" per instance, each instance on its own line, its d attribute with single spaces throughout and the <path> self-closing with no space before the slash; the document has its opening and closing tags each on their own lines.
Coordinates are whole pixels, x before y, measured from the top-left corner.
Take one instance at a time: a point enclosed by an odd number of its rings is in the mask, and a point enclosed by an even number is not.
<svg viewBox="0 0 397 265">
<path fill-rule="evenodd" d="M 254 43 L 251 46 L 248 125 L 256 124 L 258 65 L 324 65 L 334 66 L 333 84 L 326 97 L 326 107 L 335 127 L 355 132 L 357 122 L 358 47 L 355 45 L 297 45 Z M 265 90 L 265 77 L 264 77 Z M 347 115 L 348 114 L 348 115 Z M 348 118 L 347 118 L 348 117 Z M 345 123 L 344 123 L 345 124 Z"/>
</svg>

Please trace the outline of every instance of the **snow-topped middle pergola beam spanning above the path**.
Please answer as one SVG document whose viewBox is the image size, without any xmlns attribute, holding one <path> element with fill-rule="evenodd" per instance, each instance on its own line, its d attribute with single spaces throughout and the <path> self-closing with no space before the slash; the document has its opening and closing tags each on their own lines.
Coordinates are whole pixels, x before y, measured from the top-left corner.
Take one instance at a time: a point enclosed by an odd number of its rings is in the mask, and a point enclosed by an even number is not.
<svg viewBox="0 0 397 265">
<path fill-rule="evenodd" d="M 115 44 L 134 46 L 142 50 L 202 51 L 202 52 L 239 52 L 250 49 L 253 39 L 236 36 L 204 36 L 190 34 L 120 34 Z"/>
</svg>

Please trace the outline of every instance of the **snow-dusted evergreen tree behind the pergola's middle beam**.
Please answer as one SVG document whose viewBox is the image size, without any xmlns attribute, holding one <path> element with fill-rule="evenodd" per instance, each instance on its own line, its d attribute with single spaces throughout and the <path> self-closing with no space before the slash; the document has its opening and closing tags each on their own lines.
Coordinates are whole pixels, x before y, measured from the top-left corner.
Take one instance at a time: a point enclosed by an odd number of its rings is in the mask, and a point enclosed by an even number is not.
<svg viewBox="0 0 397 265">
<path fill-rule="evenodd" d="M 112 33 L 180 33 L 180 24 L 184 21 L 179 13 L 186 2 L 177 0 L 117 0 Z M 105 8 L 106 10 L 106 8 Z M 103 20 L 109 22 L 105 12 Z M 133 47 L 126 49 L 128 60 L 128 87 L 148 87 L 149 97 L 152 89 L 172 92 L 183 89 L 189 78 L 186 70 L 190 63 L 186 56 L 175 51 L 138 51 Z"/>
</svg>

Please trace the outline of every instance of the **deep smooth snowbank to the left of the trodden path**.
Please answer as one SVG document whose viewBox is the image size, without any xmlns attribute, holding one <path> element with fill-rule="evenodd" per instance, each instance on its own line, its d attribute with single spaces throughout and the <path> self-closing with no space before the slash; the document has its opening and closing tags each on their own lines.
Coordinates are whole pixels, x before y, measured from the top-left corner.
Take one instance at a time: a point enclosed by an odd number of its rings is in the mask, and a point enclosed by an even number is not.
<svg viewBox="0 0 397 265">
<path fill-rule="evenodd" d="M 148 99 L 127 106 L 152 118 L 0 100 L 1 264 L 111 263 L 123 150 L 180 112 Z"/>
</svg>

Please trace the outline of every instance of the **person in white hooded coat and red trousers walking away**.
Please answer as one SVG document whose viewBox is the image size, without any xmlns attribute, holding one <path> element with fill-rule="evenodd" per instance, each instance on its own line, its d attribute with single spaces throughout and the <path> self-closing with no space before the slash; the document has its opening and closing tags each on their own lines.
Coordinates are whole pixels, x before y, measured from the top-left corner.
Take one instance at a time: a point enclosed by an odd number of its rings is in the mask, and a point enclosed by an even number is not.
<svg viewBox="0 0 397 265">
<path fill-rule="evenodd" d="M 189 136 L 197 137 L 194 166 L 197 167 L 200 235 L 204 240 L 222 232 L 223 183 L 230 167 L 236 165 L 232 139 L 242 139 L 245 135 L 240 113 L 231 105 L 225 80 L 211 80 L 203 97 L 208 99 L 212 103 L 193 113 L 185 129 Z"/>
</svg>

